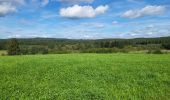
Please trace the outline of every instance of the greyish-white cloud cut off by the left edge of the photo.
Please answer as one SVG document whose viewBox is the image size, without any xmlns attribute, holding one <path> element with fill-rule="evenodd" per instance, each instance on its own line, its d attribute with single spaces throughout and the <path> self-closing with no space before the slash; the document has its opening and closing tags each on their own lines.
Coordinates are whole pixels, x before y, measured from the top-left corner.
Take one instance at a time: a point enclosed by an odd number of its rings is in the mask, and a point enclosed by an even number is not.
<svg viewBox="0 0 170 100">
<path fill-rule="evenodd" d="M 5 16 L 6 14 L 16 12 L 17 9 L 11 3 L 0 4 L 0 16 Z"/>
</svg>

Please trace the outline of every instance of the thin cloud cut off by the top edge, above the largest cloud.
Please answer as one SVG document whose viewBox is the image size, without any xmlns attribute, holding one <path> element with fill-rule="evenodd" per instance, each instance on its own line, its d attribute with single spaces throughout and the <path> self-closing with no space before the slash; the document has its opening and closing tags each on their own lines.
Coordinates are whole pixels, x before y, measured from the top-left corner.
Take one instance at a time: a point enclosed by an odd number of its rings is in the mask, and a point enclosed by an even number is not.
<svg viewBox="0 0 170 100">
<path fill-rule="evenodd" d="M 63 3 L 77 4 L 77 3 L 92 3 L 94 0 L 58 0 L 58 1 Z"/>
</svg>

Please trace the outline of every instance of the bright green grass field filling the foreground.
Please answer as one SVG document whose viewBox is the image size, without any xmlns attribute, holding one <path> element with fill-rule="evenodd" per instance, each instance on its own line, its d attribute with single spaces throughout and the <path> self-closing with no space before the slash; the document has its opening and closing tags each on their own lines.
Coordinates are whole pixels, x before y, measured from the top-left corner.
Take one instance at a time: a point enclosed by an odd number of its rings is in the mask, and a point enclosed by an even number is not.
<svg viewBox="0 0 170 100">
<path fill-rule="evenodd" d="M 0 100 L 168 100 L 170 54 L 0 57 Z"/>
</svg>

